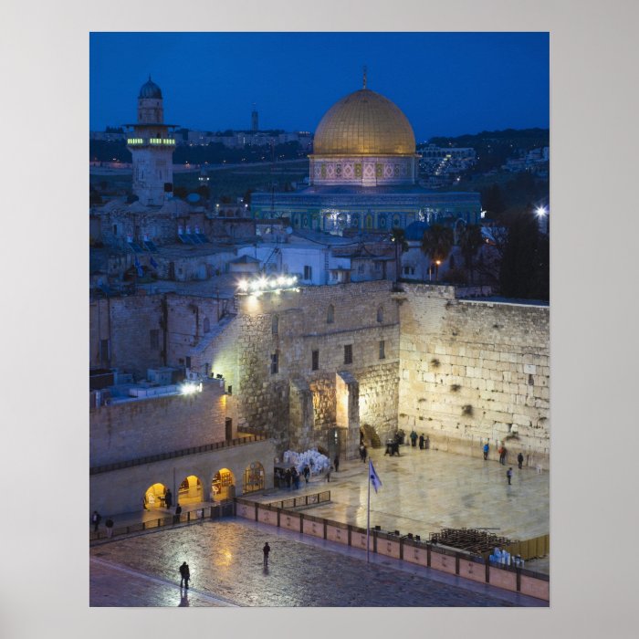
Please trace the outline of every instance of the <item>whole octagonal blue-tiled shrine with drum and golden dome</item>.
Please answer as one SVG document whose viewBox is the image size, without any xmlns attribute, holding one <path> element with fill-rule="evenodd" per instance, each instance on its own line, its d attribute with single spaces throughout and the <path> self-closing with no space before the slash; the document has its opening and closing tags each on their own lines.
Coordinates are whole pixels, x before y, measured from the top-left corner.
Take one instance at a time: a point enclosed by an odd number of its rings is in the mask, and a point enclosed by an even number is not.
<svg viewBox="0 0 639 639">
<path fill-rule="evenodd" d="M 367 89 L 339 100 L 319 121 L 309 155 L 309 187 L 252 194 L 256 219 L 288 217 L 294 228 L 342 235 L 387 233 L 415 221 L 477 224 L 477 193 L 438 193 L 418 184 L 410 122 L 391 100 Z"/>
</svg>

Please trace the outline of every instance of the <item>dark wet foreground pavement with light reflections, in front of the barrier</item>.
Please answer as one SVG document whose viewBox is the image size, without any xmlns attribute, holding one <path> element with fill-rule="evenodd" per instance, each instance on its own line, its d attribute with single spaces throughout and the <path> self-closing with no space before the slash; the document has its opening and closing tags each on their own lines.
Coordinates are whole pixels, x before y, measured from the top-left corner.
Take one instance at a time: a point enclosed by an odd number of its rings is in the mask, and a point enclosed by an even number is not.
<svg viewBox="0 0 639 639">
<path fill-rule="evenodd" d="M 517 593 L 393 561 L 323 539 L 236 519 L 204 521 L 90 550 L 91 606 L 546 605 Z M 268 568 L 262 547 L 271 546 Z M 180 589 L 178 567 L 191 569 Z"/>
</svg>

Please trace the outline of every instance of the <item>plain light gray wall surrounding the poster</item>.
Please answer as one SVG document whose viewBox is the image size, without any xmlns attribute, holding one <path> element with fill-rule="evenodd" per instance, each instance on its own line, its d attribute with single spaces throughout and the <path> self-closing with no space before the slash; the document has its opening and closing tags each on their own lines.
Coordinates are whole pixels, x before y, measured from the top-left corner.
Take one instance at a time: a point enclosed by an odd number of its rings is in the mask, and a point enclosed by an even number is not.
<svg viewBox="0 0 639 639">
<path fill-rule="evenodd" d="M 282 631 L 305 639 L 388 637 L 398 631 L 429 637 L 632 636 L 636 3 L 218 5 L 5 0 L 0 9 L 5 144 L 0 636 L 244 637 Z M 194 28 L 550 30 L 550 610 L 411 609 L 401 617 L 381 609 L 89 610 L 88 34 Z M 34 164 L 36 146 L 40 160 Z"/>
</svg>

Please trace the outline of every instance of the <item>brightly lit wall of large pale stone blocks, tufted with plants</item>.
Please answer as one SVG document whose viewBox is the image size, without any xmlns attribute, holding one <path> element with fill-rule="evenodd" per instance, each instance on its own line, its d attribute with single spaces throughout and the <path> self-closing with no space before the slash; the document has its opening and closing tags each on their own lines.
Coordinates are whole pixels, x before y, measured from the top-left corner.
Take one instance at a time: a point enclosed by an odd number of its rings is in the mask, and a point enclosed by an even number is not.
<svg viewBox="0 0 639 639">
<path fill-rule="evenodd" d="M 488 441 L 544 461 L 550 447 L 550 309 L 403 285 L 399 424 L 468 453 Z"/>
</svg>

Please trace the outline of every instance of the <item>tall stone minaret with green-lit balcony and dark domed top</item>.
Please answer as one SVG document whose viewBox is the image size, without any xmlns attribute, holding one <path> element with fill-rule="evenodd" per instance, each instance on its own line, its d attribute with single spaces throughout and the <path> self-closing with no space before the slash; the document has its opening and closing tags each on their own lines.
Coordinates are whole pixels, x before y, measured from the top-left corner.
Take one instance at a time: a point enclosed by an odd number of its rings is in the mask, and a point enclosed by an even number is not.
<svg viewBox="0 0 639 639">
<path fill-rule="evenodd" d="M 127 139 L 127 148 L 133 158 L 133 194 L 141 204 L 162 204 L 173 194 L 173 151 L 175 140 L 164 124 L 162 91 L 149 76 L 138 96 L 138 121 Z"/>
</svg>

